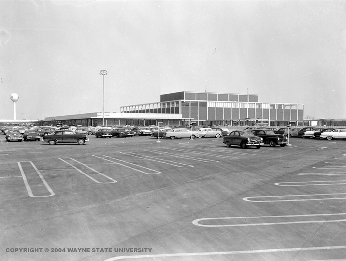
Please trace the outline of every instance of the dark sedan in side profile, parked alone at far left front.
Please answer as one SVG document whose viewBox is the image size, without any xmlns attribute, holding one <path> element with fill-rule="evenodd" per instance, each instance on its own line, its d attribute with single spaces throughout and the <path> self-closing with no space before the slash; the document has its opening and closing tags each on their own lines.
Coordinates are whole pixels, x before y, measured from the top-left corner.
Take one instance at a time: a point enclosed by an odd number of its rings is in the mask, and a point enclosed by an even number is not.
<svg viewBox="0 0 346 261">
<path fill-rule="evenodd" d="M 87 141 L 89 141 L 87 135 L 76 134 L 71 130 L 54 131 L 52 134 L 45 135 L 42 138 L 42 142 L 48 142 L 49 145 L 55 145 L 56 143 L 78 143 L 83 145 Z"/>
</svg>

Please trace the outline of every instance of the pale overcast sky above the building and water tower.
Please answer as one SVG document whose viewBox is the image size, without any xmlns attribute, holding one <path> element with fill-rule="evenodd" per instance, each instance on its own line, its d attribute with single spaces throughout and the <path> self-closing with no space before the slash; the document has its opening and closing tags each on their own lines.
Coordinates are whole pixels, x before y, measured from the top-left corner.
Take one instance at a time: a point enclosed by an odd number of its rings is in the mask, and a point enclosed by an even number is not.
<svg viewBox="0 0 346 261">
<path fill-rule="evenodd" d="M 258 94 L 346 118 L 346 1 L 0 1 L 0 119 Z"/>
</svg>

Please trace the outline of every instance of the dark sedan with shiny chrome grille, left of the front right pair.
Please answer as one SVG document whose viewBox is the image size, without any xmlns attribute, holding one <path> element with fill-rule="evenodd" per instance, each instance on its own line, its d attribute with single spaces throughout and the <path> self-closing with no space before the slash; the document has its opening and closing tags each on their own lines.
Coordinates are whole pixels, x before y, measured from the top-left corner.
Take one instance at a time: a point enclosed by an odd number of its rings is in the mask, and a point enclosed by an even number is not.
<svg viewBox="0 0 346 261">
<path fill-rule="evenodd" d="M 255 136 L 251 131 L 232 131 L 223 138 L 223 143 L 227 147 L 237 145 L 245 149 L 246 147 L 254 146 L 259 149 L 263 145 L 263 138 Z"/>
</svg>

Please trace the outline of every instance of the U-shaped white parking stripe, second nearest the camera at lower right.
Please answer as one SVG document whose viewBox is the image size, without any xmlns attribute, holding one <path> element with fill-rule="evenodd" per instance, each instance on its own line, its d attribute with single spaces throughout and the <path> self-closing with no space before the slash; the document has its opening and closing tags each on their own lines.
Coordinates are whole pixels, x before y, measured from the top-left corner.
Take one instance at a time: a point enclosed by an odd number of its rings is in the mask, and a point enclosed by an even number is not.
<svg viewBox="0 0 346 261">
<path fill-rule="evenodd" d="M 283 216 L 258 216 L 258 217 L 216 217 L 216 218 L 200 218 L 193 220 L 192 223 L 196 226 L 203 227 L 223 227 L 223 226 L 257 226 L 257 225 L 285 225 L 285 224 L 304 224 L 304 223 L 329 223 L 329 222 L 345 222 L 346 219 L 339 220 L 308 220 L 308 221 L 288 221 L 288 222 L 272 222 L 272 223 L 246 223 L 246 224 L 231 224 L 231 225 L 203 225 L 200 221 L 205 220 L 237 220 L 240 221 L 247 219 L 260 219 L 260 218 L 287 218 L 287 217 L 330 217 L 346 215 L 346 213 L 335 213 L 335 214 L 311 214 L 311 215 L 283 215 Z"/>
</svg>

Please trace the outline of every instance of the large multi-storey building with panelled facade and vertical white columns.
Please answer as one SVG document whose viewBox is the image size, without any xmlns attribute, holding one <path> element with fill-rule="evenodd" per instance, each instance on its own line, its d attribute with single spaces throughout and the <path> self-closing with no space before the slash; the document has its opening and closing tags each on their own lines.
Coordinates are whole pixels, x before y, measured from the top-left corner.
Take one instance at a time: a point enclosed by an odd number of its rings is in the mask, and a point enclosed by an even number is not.
<svg viewBox="0 0 346 261">
<path fill-rule="evenodd" d="M 278 126 L 303 122 L 304 104 L 259 102 L 253 94 L 182 91 L 160 96 L 160 102 L 120 107 L 121 113 L 181 114 L 180 124 Z M 161 117 L 160 117 L 161 118 Z"/>
</svg>

